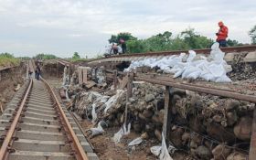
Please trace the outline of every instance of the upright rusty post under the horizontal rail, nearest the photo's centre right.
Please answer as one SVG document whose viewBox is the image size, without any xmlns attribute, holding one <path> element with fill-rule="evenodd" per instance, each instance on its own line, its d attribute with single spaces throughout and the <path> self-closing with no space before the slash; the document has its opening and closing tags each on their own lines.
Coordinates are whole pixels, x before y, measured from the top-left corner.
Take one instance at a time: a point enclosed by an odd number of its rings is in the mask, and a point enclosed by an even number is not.
<svg viewBox="0 0 256 160">
<path fill-rule="evenodd" d="M 164 115 L 164 124 L 163 124 L 163 134 L 165 136 L 165 143 L 168 146 L 169 134 L 171 127 L 171 115 L 172 115 L 172 95 L 170 94 L 170 87 L 165 86 L 165 115 Z"/>
</svg>

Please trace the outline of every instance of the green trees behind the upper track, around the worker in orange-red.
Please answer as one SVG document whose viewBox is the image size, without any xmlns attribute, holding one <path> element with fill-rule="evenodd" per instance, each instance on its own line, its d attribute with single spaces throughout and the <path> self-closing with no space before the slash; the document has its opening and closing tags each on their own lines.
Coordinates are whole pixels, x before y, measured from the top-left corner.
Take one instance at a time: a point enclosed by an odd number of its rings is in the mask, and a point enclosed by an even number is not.
<svg viewBox="0 0 256 160">
<path fill-rule="evenodd" d="M 210 48 L 215 41 L 197 34 L 194 28 L 189 27 L 177 36 L 173 36 L 170 31 L 165 31 L 145 39 L 138 39 L 133 37 L 131 33 L 123 32 L 118 35 L 112 35 L 109 42 L 117 43 L 121 37 L 126 41 L 128 53 Z M 231 39 L 228 39 L 227 43 L 228 46 L 242 45 L 237 40 Z"/>
</svg>

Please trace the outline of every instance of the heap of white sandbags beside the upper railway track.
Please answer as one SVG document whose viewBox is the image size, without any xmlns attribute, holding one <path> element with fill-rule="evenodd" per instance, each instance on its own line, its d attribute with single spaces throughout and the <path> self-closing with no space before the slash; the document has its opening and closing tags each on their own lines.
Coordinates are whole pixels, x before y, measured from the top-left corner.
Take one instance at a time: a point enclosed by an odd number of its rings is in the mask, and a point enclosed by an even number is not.
<svg viewBox="0 0 256 160">
<path fill-rule="evenodd" d="M 165 73 L 174 74 L 174 78 L 182 77 L 182 79 L 192 80 L 200 78 L 215 82 L 231 82 L 226 73 L 232 69 L 224 60 L 225 53 L 219 49 L 219 43 L 213 44 L 211 49 L 208 58 L 189 50 L 188 56 L 181 53 L 179 56 L 173 55 L 162 59 L 150 58 L 132 61 L 129 68 L 124 71 L 131 71 L 143 66 L 158 67 Z"/>
</svg>

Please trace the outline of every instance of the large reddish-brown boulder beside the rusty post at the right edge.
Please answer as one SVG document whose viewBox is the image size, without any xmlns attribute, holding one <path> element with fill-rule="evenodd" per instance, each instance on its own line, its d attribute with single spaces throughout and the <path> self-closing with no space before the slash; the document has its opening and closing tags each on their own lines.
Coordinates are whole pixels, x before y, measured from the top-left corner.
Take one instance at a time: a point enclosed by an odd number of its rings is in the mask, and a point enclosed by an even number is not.
<svg viewBox="0 0 256 160">
<path fill-rule="evenodd" d="M 236 137 L 243 141 L 251 139 L 252 118 L 249 116 L 241 117 L 240 122 L 234 127 Z"/>
</svg>

